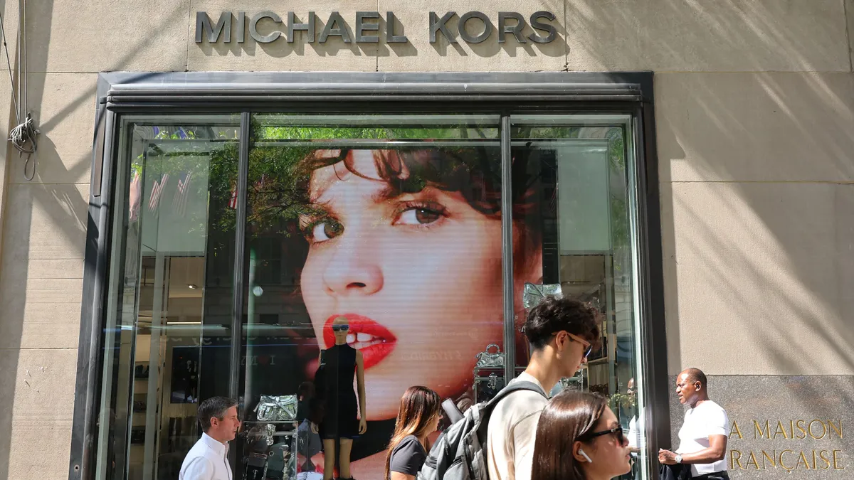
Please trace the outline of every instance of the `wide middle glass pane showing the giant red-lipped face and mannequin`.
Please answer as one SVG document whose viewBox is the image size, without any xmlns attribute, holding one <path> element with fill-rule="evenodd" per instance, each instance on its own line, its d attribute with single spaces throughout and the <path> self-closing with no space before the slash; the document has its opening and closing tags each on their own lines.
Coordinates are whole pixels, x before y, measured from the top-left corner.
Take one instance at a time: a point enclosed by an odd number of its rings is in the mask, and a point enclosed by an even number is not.
<svg viewBox="0 0 854 480">
<path fill-rule="evenodd" d="M 296 396 L 295 423 L 272 435 L 277 455 L 299 441 L 297 471 L 337 460 L 354 477 L 382 477 L 409 386 L 473 401 L 476 355 L 502 344 L 498 121 L 254 116 L 243 401 L 252 412 L 270 395 Z M 317 434 L 314 398 L 325 399 Z M 247 416 L 249 430 L 266 424 Z M 265 442 L 247 450 L 248 478 L 283 466 L 263 461 Z"/>
</svg>

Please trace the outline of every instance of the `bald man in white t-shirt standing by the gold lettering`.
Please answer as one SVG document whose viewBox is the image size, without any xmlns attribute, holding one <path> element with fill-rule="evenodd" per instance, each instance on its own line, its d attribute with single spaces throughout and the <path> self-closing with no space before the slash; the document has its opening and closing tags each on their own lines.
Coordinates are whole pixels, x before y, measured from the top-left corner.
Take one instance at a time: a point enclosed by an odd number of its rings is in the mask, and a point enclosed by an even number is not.
<svg viewBox="0 0 854 480">
<path fill-rule="evenodd" d="M 688 368 L 676 377 L 676 395 L 689 408 L 679 430 L 676 453 L 658 450 L 658 461 L 665 465 L 691 465 L 691 477 L 703 480 L 728 480 L 727 412 L 709 400 L 705 373 Z"/>
</svg>

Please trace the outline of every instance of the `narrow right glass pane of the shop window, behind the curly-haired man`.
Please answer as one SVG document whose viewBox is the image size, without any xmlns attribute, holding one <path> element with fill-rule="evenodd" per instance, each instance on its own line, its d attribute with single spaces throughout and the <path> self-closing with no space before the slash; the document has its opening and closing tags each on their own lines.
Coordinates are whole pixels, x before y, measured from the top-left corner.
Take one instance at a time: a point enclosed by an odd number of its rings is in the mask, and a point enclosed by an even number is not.
<svg viewBox="0 0 854 480">
<path fill-rule="evenodd" d="M 512 118 L 513 263 L 516 278 L 539 278 L 523 295 L 560 291 L 603 315 L 601 348 L 561 389 L 592 391 L 611 408 L 640 448 L 637 352 L 640 321 L 635 295 L 633 158 L 625 116 L 529 115 Z M 527 281 L 527 280 L 526 280 Z M 517 282 L 518 283 L 518 282 Z M 524 321 L 518 305 L 517 323 Z M 517 352 L 528 352 L 518 336 Z M 521 359 L 523 362 L 526 358 Z M 641 455 L 645 460 L 645 455 Z M 635 471 L 643 471 L 636 465 Z"/>
</svg>

